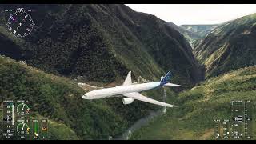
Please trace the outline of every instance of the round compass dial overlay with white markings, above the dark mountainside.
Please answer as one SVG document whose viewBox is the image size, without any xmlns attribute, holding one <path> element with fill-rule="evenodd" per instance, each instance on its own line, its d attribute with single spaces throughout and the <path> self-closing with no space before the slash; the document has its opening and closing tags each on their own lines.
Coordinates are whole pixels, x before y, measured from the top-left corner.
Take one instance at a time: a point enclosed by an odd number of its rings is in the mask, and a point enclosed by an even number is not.
<svg viewBox="0 0 256 144">
<path fill-rule="evenodd" d="M 24 8 L 17 8 L 14 14 L 10 14 L 7 23 L 8 29 L 17 37 L 26 37 L 31 34 L 34 22 L 30 14 Z"/>
</svg>

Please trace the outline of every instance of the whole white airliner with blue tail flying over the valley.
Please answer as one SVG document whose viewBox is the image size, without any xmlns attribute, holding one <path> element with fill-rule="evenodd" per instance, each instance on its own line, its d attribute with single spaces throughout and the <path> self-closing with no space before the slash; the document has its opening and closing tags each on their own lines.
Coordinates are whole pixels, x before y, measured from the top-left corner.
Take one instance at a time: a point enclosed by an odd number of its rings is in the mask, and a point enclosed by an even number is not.
<svg viewBox="0 0 256 144">
<path fill-rule="evenodd" d="M 101 90 L 92 90 L 82 96 L 84 99 L 98 99 L 98 98 L 106 98 L 113 97 L 115 95 L 122 94 L 126 98 L 122 99 L 123 104 L 127 105 L 134 102 L 134 99 L 137 99 L 142 102 L 149 102 L 159 106 L 167 106 L 174 107 L 174 105 L 170 105 L 165 102 L 159 102 L 152 98 L 147 98 L 146 96 L 139 94 L 138 92 L 144 90 L 154 89 L 160 86 L 180 86 L 173 83 L 169 83 L 167 81 L 170 80 L 170 71 L 164 76 L 161 77 L 160 82 L 148 82 L 141 84 L 134 84 L 131 82 L 131 71 L 127 74 L 125 82 L 123 82 L 122 86 L 115 86 L 111 88 L 105 88 Z"/>
</svg>

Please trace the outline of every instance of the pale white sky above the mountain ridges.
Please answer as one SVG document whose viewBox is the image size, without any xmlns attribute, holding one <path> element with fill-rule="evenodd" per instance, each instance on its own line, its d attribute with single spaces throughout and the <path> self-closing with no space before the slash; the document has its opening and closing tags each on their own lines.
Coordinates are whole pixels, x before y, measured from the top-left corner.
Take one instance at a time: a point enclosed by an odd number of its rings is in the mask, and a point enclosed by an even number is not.
<svg viewBox="0 0 256 144">
<path fill-rule="evenodd" d="M 126 4 L 135 11 L 154 14 L 166 22 L 218 24 L 256 13 L 256 4 Z"/>
</svg>

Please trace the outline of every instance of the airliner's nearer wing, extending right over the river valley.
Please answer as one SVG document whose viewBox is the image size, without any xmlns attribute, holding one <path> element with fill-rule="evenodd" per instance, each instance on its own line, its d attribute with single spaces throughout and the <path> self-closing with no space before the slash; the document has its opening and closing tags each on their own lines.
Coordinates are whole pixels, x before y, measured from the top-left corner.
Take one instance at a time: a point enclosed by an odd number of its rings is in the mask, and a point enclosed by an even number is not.
<svg viewBox="0 0 256 144">
<path fill-rule="evenodd" d="M 148 102 L 148 103 L 152 103 L 152 104 L 159 105 L 159 106 L 175 107 L 174 105 L 170 105 L 170 104 L 165 103 L 165 102 L 159 102 L 159 101 L 156 101 L 152 98 L 147 98 L 144 95 L 139 94 L 138 92 L 127 93 L 127 94 L 122 94 L 122 95 L 124 95 L 128 98 L 134 98 L 134 99 L 137 99 L 137 100 L 142 101 L 142 102 Z"/>
</svg>

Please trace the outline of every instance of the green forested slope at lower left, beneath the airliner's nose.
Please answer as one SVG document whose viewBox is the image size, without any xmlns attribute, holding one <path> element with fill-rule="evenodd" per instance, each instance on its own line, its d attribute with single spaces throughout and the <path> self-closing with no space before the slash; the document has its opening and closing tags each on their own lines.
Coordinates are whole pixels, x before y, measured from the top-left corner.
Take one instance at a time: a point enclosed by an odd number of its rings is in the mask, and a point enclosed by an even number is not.
<svg viewBox="0 0 256 144">
<path fill-rule="evenodd" d="M 46 74 L 10 58 L 0 57 L 0 77 L 1 101 L 28 100 L 31 118 L 49 118 L 50 139 L 106 139 L 122 133 L 132 122 L 115 113 L 104 100 L 82 100 L 86 91 L 70 79 Z M 120 113 L 124 108 L 119 107 Z M 133 111 L 130 119 L 136 118 L 133 114 L 143 115 L 140 110 Z"/>
</svg>

